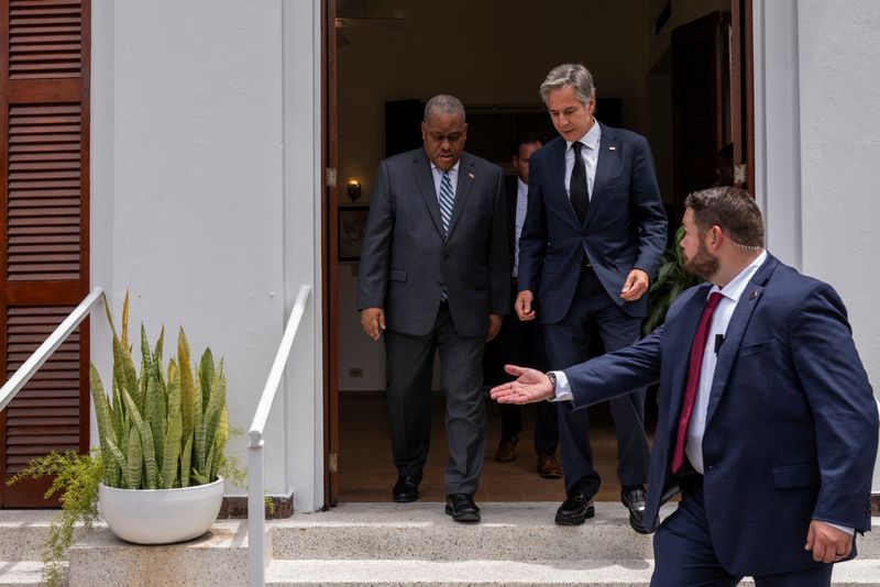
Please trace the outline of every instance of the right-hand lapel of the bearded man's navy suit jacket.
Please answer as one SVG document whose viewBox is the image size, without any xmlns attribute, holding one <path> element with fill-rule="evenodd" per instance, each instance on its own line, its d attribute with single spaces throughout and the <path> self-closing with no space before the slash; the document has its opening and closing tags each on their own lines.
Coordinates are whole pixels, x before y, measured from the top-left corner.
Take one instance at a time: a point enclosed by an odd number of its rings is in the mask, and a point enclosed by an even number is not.
<svg viewBox="0 0 880 587">
<path fill-rule="evenodd" d="M 734 363 L 736 363 L 739 347 L 743 344 L 743 336 L 746 333 L 749 320 L 751 320 L 751 314 L 758 306 L 758 301 L 761 299 L 767 280 L 778 265 L 779 262 L 776 257 L 768 255 L 763 265 L 758 268 L 758 272 L 739 297 L 739 301 L 737 301 L 734 314 L 730 317 L 730 322 L 727 324 L 727 332 L 724 334 L 724 344 L 722 344 L 718 351 L 715 373 L 712 376 L 712 391 L 710 392 L 708 406 L 706 408 L 706 427 L 708 427 L 712 421 L 712 417 L 727 387 L 727 378 L 730 375 Z"/>
</svg>

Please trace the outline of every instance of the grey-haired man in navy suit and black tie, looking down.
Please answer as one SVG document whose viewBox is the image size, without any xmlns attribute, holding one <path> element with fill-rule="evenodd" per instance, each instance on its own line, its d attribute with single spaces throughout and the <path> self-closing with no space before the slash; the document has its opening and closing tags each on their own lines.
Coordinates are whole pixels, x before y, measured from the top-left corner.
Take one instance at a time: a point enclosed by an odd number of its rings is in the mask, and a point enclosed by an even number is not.
<svg viewBox="0 0 880 587">
<path fill-rule="evenodd" d="M 528 213 L 519 240 L 520 320 L 541 323 L 550 367 L 587 358 L 595 329 L 606 351 L 636 342 L 650 276 L 667 244 L 667 219 L 648 142 L 594 118 L 596 88 L 583 65 L 564 64 L 540 89 L 560 136 L 531 156 Z M 648 441 L 645 390 L 609 402 L 617 432 L 620 500 L 645 508 Z M 594 514 L 600 476 L 586 411 L 559 411 L 565 500 L 560 524 Z"/>
</svg>

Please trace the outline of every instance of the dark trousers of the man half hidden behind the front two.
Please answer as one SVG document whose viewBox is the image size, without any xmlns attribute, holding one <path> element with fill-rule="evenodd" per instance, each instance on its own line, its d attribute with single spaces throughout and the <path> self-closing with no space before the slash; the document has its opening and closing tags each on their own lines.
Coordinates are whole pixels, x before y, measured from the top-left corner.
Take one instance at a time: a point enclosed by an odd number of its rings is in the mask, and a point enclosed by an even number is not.
<svg viewBox="0 0 880 587">
<path fill-rule="evenodd" d="M 516 300 L 517 289 L 516 283 L 512 284 L 512 300 Z M 504 366 L 508 364 L 539 370 L 549 369 L 540 324 L 536 321 L 520 322 L 513 306 L 509 315 L 504 317 L 498 335 L 486 343 L 483 383 L 494 387 L 512 380 L 513 376 L 504 370 Z M 535 406 L 535 452 L 553 454 L 559 444 L 557 407 L 541 401 Z M 522 432 L 521 406 L 498 403 L 498 411 L 502 419 L 502 440 L 510 440 Z"/>
</svg>

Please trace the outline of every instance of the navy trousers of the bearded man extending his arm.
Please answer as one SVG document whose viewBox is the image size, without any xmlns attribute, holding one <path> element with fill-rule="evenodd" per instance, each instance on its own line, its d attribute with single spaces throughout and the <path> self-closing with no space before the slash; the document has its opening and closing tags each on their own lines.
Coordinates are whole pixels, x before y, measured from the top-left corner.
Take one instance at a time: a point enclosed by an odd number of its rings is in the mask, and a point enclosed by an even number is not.
<svg viewBox="0 0 880 587">
<path fill-rule="evenodd" d="M 702 476 L 681 483 L 682 500 L 653 536 L 654 571 L 651 587 L 735 587 L 743 577 L 722 568 L 706 522 Z M 806 536 L 804 536 L 806 541 Z M 772 547 L 772 545 L 768 545 Z M 801 573 L 763 575 L 756 587 L 827 587 L 833 565 Z"/>
</svg>

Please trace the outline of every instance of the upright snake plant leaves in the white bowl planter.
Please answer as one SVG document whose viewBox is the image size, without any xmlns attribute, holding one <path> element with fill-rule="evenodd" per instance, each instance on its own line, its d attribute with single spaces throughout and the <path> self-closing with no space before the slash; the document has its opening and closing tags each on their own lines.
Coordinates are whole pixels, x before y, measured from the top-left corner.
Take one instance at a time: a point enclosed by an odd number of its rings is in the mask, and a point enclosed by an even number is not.
<svg viewBox="0 0 880 587">
<path fill-rule="evenodd" d="M 113 397 L 105 396 L 97 370 L 91 394 L 98 436 L 107 459 L 103 483 L 121 489 L 169 489 L 217 480 L 226 463 L 229 418 L 223 361 L 215 367 L 210 348 L 196 368 L 184 329 L 177 335 L 177 357 L 169 359 L 167 385 L 162 378 L 162 334 L 151 350 L 141 325 L 141 373 L 128 343 L 129 297 L 122 308 L 122 329 L 113 333 Z"/>
</svg>

